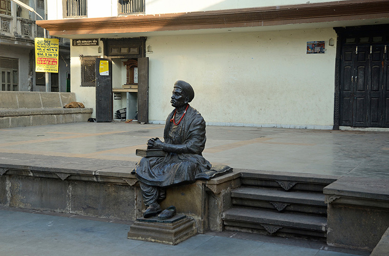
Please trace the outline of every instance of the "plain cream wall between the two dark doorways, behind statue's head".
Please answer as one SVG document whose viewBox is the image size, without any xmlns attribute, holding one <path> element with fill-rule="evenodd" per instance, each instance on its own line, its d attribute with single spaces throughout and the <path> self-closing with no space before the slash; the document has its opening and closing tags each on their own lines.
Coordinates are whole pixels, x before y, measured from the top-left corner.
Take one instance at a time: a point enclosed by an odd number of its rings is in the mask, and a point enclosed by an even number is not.
<svg viewBox="0 0 389 256">
<path fill-rule="evenodd" d="M 149 119 L 164 121 L 178 79 L 214 124 L 333 124 L 336 38 L 332 29 L 148 37 Z M 306 54 L 307 41 L 325 54 Z"/>
</svg>

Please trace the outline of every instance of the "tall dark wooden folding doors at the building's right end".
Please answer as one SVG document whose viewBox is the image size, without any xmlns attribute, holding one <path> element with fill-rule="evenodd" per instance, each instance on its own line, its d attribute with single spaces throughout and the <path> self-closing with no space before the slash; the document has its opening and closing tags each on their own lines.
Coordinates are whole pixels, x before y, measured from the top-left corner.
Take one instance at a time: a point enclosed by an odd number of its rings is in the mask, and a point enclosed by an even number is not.
<svg viewBox="0 0 389 256">
<path fill-rule="evenodd" d="M 389 127 L 388 28 L 335 28 L 338 52 L 334 129 L 339 125 Z"/>
</svg>

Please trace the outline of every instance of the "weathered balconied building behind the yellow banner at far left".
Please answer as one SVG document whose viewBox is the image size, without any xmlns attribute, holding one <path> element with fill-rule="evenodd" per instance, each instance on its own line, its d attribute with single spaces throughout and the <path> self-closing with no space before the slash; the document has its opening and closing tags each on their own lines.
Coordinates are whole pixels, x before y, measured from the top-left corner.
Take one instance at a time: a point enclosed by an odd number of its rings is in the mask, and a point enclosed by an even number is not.
<svg viewBox="0 0 389 256">
<path fill-rule="evenodd" d="M 44 0 L 21 0 L 45 17 Z M 44 37 L 35 13 L 0 0 L 0 91 L 46 91 L 45 73 L 35 72 L 34 38 Z M 49 87 L 66 92 L 70 79 L 70 41 L 60 38 L 59 72 L 49 73 Z"/>
</svg>

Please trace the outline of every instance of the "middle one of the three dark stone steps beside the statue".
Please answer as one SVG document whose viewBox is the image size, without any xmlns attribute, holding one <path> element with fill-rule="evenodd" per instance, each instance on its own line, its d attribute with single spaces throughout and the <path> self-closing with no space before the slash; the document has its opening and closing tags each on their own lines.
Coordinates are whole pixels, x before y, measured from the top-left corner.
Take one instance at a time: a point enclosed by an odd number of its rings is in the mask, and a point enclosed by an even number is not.
<svg viewBox="0 0 389 256">
<path fill-rule="evenodd" d="M 231 199 L 233 205 L 327 215 L 325 196 L 321 193 L 242 186 L 232 190 Z"/>
</svg>

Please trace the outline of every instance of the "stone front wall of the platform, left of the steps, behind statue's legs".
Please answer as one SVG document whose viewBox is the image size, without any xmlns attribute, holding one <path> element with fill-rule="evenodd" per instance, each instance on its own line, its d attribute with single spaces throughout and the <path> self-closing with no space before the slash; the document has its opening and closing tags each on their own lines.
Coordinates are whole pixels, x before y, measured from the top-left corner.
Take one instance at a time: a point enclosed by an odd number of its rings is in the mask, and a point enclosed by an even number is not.
<svg viewBox="0 0 389 256">
<path fill-rule="evenodd" d="M 127 161 L 115 161 L 113 166 L 96 159 L 66 167 L 39 159 L 26 163 L 0 166 L 0 205 L 126 221 L 142 217 L 141 190 Z M 195 221 L 199 233 L 222 231 L 221 215 L 229 207 L 230 189 L 240 184 L 239 176 L 237 170 L 209 181 L 170 187 L 161 207 L 175 205 L 178 214 Z"/>
</svg>

